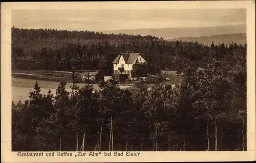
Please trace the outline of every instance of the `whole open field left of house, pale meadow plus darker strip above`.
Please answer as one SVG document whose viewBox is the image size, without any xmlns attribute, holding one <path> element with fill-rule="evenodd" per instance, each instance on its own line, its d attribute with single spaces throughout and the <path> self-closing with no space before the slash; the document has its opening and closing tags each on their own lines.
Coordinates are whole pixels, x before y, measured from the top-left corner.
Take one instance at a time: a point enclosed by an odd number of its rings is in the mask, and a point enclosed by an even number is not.
<svg viewBox="0 0 256 163">
<path fill-rule="evenodd" d="M 70 86 L 71 72 L 63 71 L 41 71 L 41 70 L 19 70 L 12 71 L 12 100 L 16 103 L 19 100 L 24 101 L 29 98 L 30 92 L 34 91 L 34 84 L 37 81 L 41 87 L 41 93 L 47 94 L 49 89 L 52 94 L 56 94 L 59 81 L 65 80 L 67 82 L 66 89 L 71 92 Z M 77 73 L 79 74 L 79 73 Z M 166 83 L 174 84 L 177 81 L 168 81 Z M 84 86 L 86 84 L 78 83 L 77 86 Z M 148 90 L 151 89 L 153 84 L 146 84 Z M 98 84 L 93 84 L 94 88 L 99 89 Z M 130 91 L 135 92 L 138 90 L 136 86 L 120 85 L 121 89 L 129 88 Z"/>
</svg>

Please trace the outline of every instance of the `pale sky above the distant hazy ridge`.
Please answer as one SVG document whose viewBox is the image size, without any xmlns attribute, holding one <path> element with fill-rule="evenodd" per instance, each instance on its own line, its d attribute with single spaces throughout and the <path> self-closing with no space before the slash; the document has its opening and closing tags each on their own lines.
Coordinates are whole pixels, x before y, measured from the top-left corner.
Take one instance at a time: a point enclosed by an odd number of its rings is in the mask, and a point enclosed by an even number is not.
<svg viewBox="0 0 256 163">
<path fill-rule="evenodd" d="M 12 10 L 15 28 L 108 31 L 246 23 L 245 9 Z"/>
</svg>

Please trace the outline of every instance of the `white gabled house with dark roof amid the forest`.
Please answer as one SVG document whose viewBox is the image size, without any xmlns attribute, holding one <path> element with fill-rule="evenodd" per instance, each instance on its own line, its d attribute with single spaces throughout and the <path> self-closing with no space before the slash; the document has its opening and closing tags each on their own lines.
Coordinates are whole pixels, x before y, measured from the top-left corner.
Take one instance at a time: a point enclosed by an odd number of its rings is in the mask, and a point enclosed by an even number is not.
<svg viewBox="0 0 256 163">
<path fill-rule="evenodd" d="M 131 78 L 131 70 L 136 61 L 146 63 L 140 53 L 120 53 L 112 62 L 114 74 L 129 74 Z"/>
</svg>

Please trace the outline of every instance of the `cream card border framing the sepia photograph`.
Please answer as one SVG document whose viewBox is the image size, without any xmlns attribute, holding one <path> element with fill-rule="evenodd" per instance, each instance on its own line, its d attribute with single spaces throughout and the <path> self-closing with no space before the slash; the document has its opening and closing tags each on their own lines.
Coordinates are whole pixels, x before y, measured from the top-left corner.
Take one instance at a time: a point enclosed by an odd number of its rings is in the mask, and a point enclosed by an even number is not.
<svg viewBox="0 0 256 163">
<path fill-rule="evenodd" d="M 255 1 L 186 2 L 46 2 L 1 3 L 1 158 L 2 162 L 151 162 L 255 160 Z M 81 9 L 226 9 L 247 10 L 247 151 L 140 152 L 138 157 L 17 157 L 11 152 L 11 26 L 12 10 Z M 73 152 L 76 153 L 76 152 Z"/>
</svg>

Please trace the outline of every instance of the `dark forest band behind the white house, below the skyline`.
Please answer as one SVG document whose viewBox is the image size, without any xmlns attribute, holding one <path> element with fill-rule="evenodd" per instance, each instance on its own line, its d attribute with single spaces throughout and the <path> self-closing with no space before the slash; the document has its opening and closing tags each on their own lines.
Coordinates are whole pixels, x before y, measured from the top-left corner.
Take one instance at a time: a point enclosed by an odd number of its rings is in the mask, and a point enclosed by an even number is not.
<svg viewBox="0 0 256 163">
<path fill-rule="evenodd" d="M 140 52 L 148 69 L 183 72 L 206 68 L 212 58 L 232 67 L 246 53 L 246 45 L 203 45 L 166 41 L 154 36 L 102 34 L 90 31 L 12 28 L 12 70 L 113 70 L 120 52 Z"/>
</svg>

